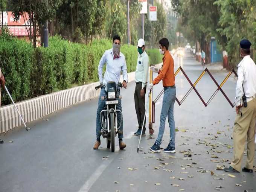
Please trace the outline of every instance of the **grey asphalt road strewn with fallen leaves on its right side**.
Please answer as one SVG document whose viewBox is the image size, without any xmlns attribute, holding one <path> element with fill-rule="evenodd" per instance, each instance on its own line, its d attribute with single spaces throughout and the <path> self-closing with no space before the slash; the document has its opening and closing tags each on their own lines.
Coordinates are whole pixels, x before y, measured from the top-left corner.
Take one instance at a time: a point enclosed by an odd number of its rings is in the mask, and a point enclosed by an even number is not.
<svg viewBox="0 0 256 192">
<path fill-rule="evenodd" d="M 179 65 L 192 82 L 203 70 L 189 53 L 184 58 L 175 57 L 175 68 Z M 227 75 L 218 65 L 207 67 L 219 83 Z M 177 75 L 175 81 L 177 98 L 181 99 L 190 86 L 181 74 Z M 5 141 L 0 144 L 0 192 L 215 191 L 217 186 L 223 187 L 221 191 L 256 190 L 256 172 L 234 174 L 236 178 L 232 178 L 216 170 L 217 165 L 229 166 L 228 160 L 232 158 L 231 136 L 235 118 L 234 109 L 220 92 L 207 108 L 194 91 L 181 106 L 175 103 L 175 124 L 179 130 L 176 132 L 177 153 L 168 156 L 163 152 L 149 152 L 154 139 L 148 139 L 148 133 L 142 139 L 142 151 L 137 154 L 138 137 L 132 136 L 137 129 L 134 88 L 134 82 L 130 82 L 127 90 L 121 91 L 124 141 L 127 144 L 124 151 L 119 151 L 117 147 L 114 153 L 110 152 L 106 149 L 105 140 L 102 140 L 98 151 L 93 150 L 96 98 L 30 123 L 32 129 L 28 132 L 16 129 L 0 136 Z M 216 85 L 205 75 L 197 88 L 207 100 L 216 90 Z M 161 83 L 154 87 L 154 98 L 160 90 Z M 233 76 L 223 90 L 233 101 Z M 161 102 L 162 97 L 156 104 L 154 137 L 158 133 Z M 162 147 L 168 145 L 168 138 L 166 123 Z M 186 153 L 191 157 L 186 157 Z M 102 159 L 106 156 L 109 156 L 107 160 Z M 219 158 L 211 158 L 214 156 Z M 211 171 L 215 175 L 211 175 Z M 189 178 L 188 175 L 193 177 Z"/>
</svg>

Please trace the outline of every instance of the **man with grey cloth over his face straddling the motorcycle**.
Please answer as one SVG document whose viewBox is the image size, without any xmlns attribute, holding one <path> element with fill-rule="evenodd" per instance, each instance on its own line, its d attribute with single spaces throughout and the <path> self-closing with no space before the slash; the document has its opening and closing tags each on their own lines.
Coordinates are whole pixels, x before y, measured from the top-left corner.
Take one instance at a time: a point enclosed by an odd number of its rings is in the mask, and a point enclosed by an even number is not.
<svg viewBox="0 0 256 192">
<path fill-rule="evenodd" d="M 123 53 L 120 52 L 120 43 L 121 38 L 119 35 L 114 35 L 113 37 L 113 48 L 106 50 L 103 54 L 101 60 L 99 61 L 98 66 L 98 75 L 99 75 L 99 81 L 101 84 L 103 84 L 103 87 L 101 88 L 101 93 L 99 95 L 99 101 L 98 101 L 98 109 L 97 109 L 97 118 L 96 118 L 96 142 L 93 146 L 93 149 L 98 149 L 101 145 L 101 119 L 100 119 L 100 113 L 105 107 L 105 100 L 102 100 L 102 97 L 106 97 L 107 93 L 105 91 L 105 85 L 109 81 L 116 82 L 116 85 L 119 83 L 121 72 L 123 74 L 123 83 L 122 86 L 126 88 L 126 84 L 128 82 L 128 76 L 127 76 L 127 67 L 126 67 L 126 61 L 125 56 Z M 103 77 L 103 67 L 106 64 L 106 71 Z M 122 111 L 122 102 L 119 98 L 120 96 L 120 87 L 117 88 L 117 109 Z M 117 124 L 120 125 L 118 138 L 119 138 L 119 148 L 124 149 L 126 147 L 125 143 L 123 142 L 123 121 L 121 120 L 122 116 L 120 113 L 117 113 Z"/>
</svg>

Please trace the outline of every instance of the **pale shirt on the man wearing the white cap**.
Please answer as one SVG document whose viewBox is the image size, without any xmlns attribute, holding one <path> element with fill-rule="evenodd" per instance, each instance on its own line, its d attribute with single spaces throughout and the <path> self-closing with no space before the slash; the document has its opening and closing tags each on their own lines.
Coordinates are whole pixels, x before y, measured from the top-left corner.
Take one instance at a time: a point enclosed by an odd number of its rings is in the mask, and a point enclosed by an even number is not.
<svg viewBox="0 0 256 192">
<path fill-rule="evenodd" d="M 135 71 L 135 82 L 142 82 L 142 88 L 145 87 L 148 81 L 148 54 L 144 51 L 139 54 L 137 59 L 137 67 Z"/>
</svg>

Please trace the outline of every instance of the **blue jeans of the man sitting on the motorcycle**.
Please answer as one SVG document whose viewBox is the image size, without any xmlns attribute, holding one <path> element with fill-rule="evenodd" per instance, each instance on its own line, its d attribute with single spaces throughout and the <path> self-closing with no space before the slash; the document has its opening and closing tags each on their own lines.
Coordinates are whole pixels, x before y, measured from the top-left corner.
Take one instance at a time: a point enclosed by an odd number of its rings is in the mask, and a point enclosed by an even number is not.
<svg viewBox="0 0 256 192">
<path fill-rule="evenodd" d="M 101 99 L 102 96 L 104 96 L 105 98 L 107 97 L 105 87 L 101 88 L 101 93 L 99 94 L 97 118 L 96 118 L 96 138 L 97 138 L 97 140 L 99 140 L 101 138 L 101 117 L 100 117 L 100 114 L 101 114 L 101 111 L 104 110 L 105 102 L 106 102 L 106 100 Z M 121 99 L 119 99 L 119 96 L 120 96 L 120 88 L 118 88 L 118 90 L 117 90 L 118 104 L 116 106 L 116 109 L 122 111 L 122 102 L 121 102 Z M 117 124 L 118 124 L 118 126 L 120 125 L 121 118 L 122 118 L 121 114 L 117 113 Z M 120 131 L 120 133 L 118 133 L 118 138 L 123 139 L 123 121 L 122 121 L 121 126 L 119 128 L 119 131 Z"/>
</svg>

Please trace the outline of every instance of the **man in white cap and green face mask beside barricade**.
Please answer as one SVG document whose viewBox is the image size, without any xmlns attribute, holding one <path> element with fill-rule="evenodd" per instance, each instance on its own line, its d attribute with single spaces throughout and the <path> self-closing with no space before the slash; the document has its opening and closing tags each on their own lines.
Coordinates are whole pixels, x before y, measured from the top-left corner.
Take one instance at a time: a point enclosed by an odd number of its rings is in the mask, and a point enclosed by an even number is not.
<svg viewBox="0 0 256 192">
<path fill-rule="evenodd" d="M 135 72 L 135 92 L 134 92 L 134 103 L 135 110 L 137 114 L 139 128 L 134 133 L 136 136 L 140 136 L 142 131 L 142 136 L 146 135 L 146 121 L 143 124 L 143 119 L 145 115 L 145 94 L 146 94 L 146 84 L 148 81 L 148 67 L 149 67 L 149 59 L 148 54 L 145 51 L 145 41 L 143 39 L 139 39 L 138 41 L 138 59 L 137 59 L 137 67 Z M 143 128 L 143 130 L 142 130 Z"/>
</svg>

